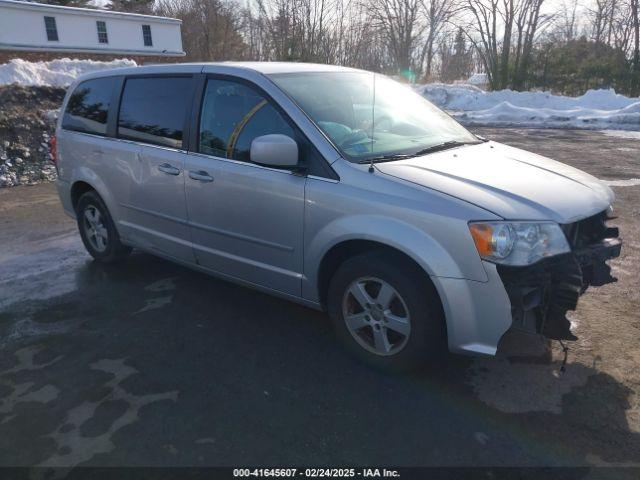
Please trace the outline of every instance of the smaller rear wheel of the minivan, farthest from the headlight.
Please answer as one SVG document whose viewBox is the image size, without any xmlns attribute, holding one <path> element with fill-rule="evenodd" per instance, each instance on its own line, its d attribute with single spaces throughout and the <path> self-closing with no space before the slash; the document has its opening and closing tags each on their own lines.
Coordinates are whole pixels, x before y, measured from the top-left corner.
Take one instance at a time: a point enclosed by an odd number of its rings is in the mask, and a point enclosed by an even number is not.
<svg viewBox="0 0 640 480">
<path fill-rule="evenodd" d="M 82 243 L 95 261 L 115 263 L 131 253 L 131 248 L 120 241 L 109 210 L 95 191 L 80 197 L 76 218 Z"/>
</svg>

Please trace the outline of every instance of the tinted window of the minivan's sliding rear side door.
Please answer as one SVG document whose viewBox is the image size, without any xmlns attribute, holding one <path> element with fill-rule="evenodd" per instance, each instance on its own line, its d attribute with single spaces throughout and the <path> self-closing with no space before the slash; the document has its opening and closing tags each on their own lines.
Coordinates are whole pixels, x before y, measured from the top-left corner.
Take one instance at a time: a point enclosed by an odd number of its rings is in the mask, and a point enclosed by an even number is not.
<svg viewBox="0 0 640 480">
<path fill-rule="evenodd" d="M 182 148 L 190 100 L 190 77 L 130 78 L 122 94 L 118 136 Z"/>
</svg>

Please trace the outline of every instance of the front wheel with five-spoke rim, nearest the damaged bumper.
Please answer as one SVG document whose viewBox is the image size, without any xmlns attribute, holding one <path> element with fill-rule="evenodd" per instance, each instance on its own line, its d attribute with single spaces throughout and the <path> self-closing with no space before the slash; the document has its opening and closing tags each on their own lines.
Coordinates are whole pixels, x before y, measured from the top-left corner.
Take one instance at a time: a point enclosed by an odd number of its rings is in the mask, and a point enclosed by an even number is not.
<svg viewBox="0 0 640 480">
<path fill-rule="evenodd" d="M 375 250 L 345 261 L 329 283 L 327 306 L 338 339 L 374 367 L 410 371 L 446 358 L 435 287 L 400 254 Z"/>
</svg>

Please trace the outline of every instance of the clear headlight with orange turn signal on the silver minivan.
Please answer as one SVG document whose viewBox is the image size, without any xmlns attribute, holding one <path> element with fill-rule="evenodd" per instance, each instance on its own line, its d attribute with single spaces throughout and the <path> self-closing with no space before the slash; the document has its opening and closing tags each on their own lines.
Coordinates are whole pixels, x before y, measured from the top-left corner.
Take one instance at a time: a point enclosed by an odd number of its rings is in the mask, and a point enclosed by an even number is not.
<svg viewBox="0 0 640 480">
<path fill-rule="evenodd" d="M 472 222 L 469 230 L 480 257 L 504 265 L 531 265 L 571 251 L 553 222 Z"/>
</svg>

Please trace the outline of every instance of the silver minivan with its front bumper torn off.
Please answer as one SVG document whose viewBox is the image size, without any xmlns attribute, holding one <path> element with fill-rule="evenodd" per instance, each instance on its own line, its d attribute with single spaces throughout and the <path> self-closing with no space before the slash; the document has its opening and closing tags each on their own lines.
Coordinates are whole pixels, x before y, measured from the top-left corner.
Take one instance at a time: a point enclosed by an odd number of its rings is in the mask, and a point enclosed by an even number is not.
<svg viewBox="0 0 640 480">
<path fill-rule="evenodd" d="M 364 360 L 572 339 L 614 281 L 598 179 L 475 136 L 409 87 L 326 65 L 219 63 L 79 78 L 58 191 L 89 253 L 132 248 L 328 311 Z"/>
</svg>

